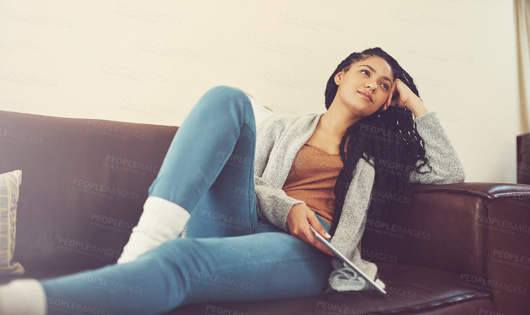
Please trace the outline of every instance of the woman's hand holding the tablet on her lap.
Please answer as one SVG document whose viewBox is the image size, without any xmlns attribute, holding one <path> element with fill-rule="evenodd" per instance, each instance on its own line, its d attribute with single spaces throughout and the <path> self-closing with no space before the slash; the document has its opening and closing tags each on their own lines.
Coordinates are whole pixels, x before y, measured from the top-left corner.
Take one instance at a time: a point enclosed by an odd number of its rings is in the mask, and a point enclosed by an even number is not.
<svg viewBox="0 0 530 315">
<path fill-rule="evenodd" d="M 287 214 L 285 226 L 287 227 L 287 231 L 292 236 L 301 239 L 304 242 L 311 244 L 326 254 L 334 257 L 335 255 L 331 252 L 331 250 L 326 248 L 324 244 L 317 240 L 315 235 L 313 235 L 313 232 L 311 232 L 309 227 L 310 224 L 313 226 L 313 229 L 315 229 L 316 232 L 319 232 L 320 235 L 322 235 L 322 237 L 325 239 L 331 238 L 328 232 L 326 232 L 324 229 L 324 226 L 320 224 L 320 221 L 316 217 L 315 213 L 308 206 L 304 204 L 296 204 L 290 209 L 289 214 Z"/>
</svg>

